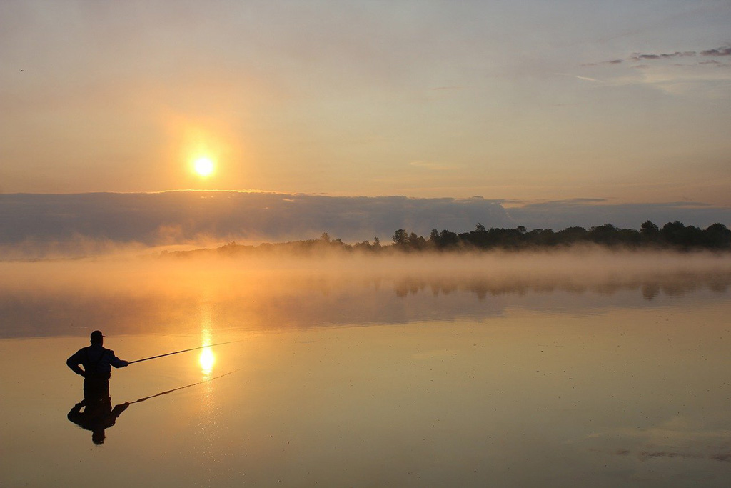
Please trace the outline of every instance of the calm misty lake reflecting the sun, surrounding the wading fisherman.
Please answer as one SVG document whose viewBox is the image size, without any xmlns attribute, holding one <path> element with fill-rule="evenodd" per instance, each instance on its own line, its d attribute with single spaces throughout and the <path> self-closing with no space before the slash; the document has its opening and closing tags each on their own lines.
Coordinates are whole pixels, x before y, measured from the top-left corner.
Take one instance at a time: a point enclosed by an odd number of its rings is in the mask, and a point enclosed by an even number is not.
<svg viewBox="0 0 731 488">
<path fill-rule="evenodd" d="M 4 487 L 731 484 L 727 255 L 0 273 Z M 227 343 L 115 369 L 96 444 L 65 364 L 94 329 L 129 361 Z"/>
</svg>

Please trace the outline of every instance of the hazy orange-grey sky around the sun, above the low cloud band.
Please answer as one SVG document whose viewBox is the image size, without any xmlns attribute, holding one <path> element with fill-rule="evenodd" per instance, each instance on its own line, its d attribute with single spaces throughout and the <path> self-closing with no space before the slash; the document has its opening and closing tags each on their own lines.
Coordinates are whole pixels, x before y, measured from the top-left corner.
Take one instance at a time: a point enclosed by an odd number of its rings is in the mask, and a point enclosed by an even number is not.
<svg viewBox="0 0 731 488">
<path fill-rule="evenodd" d="M 728 0 L 0 0 L 0 192 L 728 208 L 729 26 Z"/>
</svg>

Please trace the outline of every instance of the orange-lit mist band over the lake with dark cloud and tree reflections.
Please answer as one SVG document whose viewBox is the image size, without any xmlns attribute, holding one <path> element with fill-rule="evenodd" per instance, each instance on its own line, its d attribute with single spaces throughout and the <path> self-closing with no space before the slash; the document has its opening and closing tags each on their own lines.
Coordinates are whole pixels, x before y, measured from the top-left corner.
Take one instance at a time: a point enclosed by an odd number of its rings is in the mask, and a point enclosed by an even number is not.
<svg viewBox="0 0 731 488">
<path fill-rule="evenodd" d="M 186 255 L 187 256 L 187 255 Z M 197 255 L 193 255 L 197 256 Z M 505 307 L 645 307 L 723 295 L 731 258 L 711 253 L 277 254 L 265 258 L 107 256 L 0 263 L 3 337 L 197 329 L 287 329 L 499 315 Z M 556 300 L 560 295 L 561 299 Z"/>
</svg>

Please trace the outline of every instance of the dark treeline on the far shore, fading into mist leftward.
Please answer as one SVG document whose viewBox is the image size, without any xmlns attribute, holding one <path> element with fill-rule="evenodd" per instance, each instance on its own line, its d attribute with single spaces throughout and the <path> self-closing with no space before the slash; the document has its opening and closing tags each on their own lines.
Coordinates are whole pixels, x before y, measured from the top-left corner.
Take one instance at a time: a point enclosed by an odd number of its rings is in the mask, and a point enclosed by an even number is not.
<svg viewBox="0 0 731 488">
<path fill-rule="evenodd" d="M 361 252 L 449 252 L 482 249 L 546 249 L 569 247 L 577 244 L 598 244 L 605 247 L 625 247 L 629 249 L 711 249 L 730 250 L 731 230 L 723 224 L 713 224 L 701 229 L 682 222 L 667 222 L 659 228 L 649 220 L 637 229 L 621 229 L 605 224 L 588 230 L 583 227 L 569 227 L 554 232 L 552 229 L 526 230 L 516 228 L 485 228 L 482 224 L 471 232 L 455 233 L 450 230 L 441 232 L 432 229 L 428 238 L 398 229 L 391 238 L 392 244 L 381 244 L 378 237 L 371 241 L 346 244 L 341 239 L 330 239 L 322 233 L 319 239 L 259 244 L 258 246 L 240 245 L 230 242 L 217 249 L 197 249 L 194 251 L 162 252 L 166 256 L 192 257 L 193 255 L 242 255 L 287 252 L 310 254 L 312 252 L 339 250 Z"/>
</svg>

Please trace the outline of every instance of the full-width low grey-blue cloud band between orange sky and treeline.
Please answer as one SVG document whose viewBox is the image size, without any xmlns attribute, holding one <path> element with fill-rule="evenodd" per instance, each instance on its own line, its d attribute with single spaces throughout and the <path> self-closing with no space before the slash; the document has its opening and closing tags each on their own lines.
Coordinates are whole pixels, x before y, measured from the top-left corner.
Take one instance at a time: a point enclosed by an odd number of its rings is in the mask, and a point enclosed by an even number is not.
<svg viewBox="0 0 731 488">
<path fill-rule="evenodd" d="M 486 228 L 528 230 L 681 220 L 731 225 L 731 209 L 700 204 L 613 205 L 601 199 L 507 203 L 474 198 L 330 197 L 264 192 L 0 195 L 0 259 L 80 257 L 121 249 L 317 239 L 390 243 L 395 230 L 429 236 Z"/>
</svg>

